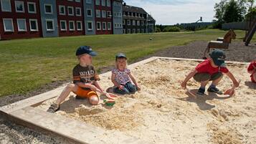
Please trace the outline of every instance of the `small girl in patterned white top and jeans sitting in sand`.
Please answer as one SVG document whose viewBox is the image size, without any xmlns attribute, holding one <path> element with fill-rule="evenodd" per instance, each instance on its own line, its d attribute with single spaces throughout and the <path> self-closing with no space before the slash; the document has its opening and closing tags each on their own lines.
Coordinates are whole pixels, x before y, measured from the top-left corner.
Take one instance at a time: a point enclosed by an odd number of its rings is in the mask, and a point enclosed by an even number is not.
<svg viewBox="0 0 256 144">
<path fill-rule="evenodd" d="M 138 86 L 133 75 L 131 75 L 130 69 L 126 67 L 127 58 L 125 54 L 120 53 L 115 56 L 115 69 L 112 70 L 111 81 L 115 85 L 113 92 L 125 95 L 141 90 Z M 133 81 L 134 85 L 132 84 Z"/>
</svg>

